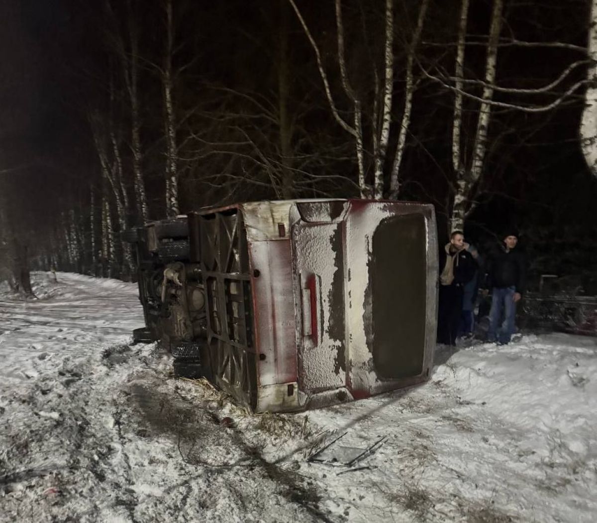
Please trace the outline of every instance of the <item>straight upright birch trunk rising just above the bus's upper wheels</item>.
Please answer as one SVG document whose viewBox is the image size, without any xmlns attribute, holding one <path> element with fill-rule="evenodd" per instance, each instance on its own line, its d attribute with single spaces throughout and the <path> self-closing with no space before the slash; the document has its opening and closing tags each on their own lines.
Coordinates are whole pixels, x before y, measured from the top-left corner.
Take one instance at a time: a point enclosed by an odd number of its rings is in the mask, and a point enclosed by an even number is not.
<svg viewBox="0 0 597 523">
<path fill-rule="evenodd" d="M 165 135 L 166 135 L 166 215 L 176 216 L 179 210 L 178 186 L 178 147 L 176 142 L 176 121 L 173 100 L 172 55 L 174 52 L 174 26 L 172 0 L 165 0 L 166 10 L 166 49 L 164 53 L 164 70 L 162 86 L 164 89 Z"/>
</svg>

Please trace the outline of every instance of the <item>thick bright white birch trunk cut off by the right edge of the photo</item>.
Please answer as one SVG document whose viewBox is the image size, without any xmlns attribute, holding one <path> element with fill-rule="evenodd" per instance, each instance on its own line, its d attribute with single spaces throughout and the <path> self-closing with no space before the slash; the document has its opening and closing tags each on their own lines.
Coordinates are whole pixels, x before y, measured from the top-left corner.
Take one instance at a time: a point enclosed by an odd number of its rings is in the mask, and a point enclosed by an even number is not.
<svg viewBox="0 0 597 523">
<path fill-rule="evenodd" d="M 597 177 L 597 0 L 591 1 L 587 52 L 591 63 L 587 68 L 589 84 L 580 122 L 580 144 L 587 166 Z"/>
</svg>

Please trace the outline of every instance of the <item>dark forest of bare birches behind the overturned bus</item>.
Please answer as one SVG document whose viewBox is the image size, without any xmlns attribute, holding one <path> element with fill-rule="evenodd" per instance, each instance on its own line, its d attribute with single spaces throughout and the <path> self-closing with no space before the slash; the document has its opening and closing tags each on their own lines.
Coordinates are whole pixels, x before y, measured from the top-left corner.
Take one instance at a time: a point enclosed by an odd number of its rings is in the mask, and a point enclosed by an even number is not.
<svg viewBox="0 0 597 523">
<path fill-rule="evenodd" d="M 21 290 L 27 260 L 127 278 L 125 228 L 298 197 L 430 202 L 440 236 L 517 225 L 535 273 L 596 269 L 588 0 L 45 4 L 2 7 Z"/>
</svg>

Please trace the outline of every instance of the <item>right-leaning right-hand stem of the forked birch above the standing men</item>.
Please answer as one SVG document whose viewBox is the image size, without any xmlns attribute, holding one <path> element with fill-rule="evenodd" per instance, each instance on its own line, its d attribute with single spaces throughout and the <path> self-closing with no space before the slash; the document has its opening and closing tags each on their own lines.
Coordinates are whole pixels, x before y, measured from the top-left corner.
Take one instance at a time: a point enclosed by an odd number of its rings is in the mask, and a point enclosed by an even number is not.
<svg viewBox="0 0 597 523">
<path fill-rule="evenodd" d="M 491 117 L 491 100 L 493 99 L 494 82 L 496 80 L 497 44 L 501 30 L 501 12 L 503 0 L 494 0 L 491 13 L 491 27 L 487 43 L 487 59 L 485 61 L 485 84 L 483 87 L 482 102 L 479 107 L 479 119 L 473 144 L 472 165 L 456 180 L 456 194 L 451 213 L 450 228 L 452 231 L 464 228 L 464 219 L 472 211 L 474 204 L 469 201 L 473 186 L 481 178 L 485 151 L 487 150 L 487 131 Z M 467 208 L 468 206 L 468 208 Z"/>
</svg>

